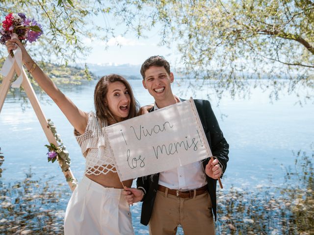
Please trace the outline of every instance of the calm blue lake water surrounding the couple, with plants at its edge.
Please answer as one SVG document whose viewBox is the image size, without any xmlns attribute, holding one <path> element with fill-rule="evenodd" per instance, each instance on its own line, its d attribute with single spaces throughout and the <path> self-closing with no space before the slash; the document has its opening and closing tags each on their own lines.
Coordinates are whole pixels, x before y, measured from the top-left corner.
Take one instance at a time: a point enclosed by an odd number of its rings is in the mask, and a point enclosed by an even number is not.
<svg viewBox="0 0 314 235">
<path fill-rule="evenodd" d="M 90 111 L 94 109 L 95 84 L 96 81 L 93 81 L 79 87 L 62 87 L 61 90 L 78 108 Z M 141 80 L 131 80 L 131 86 L 141 105 L 153 102 L 153 98 L 142 88 Z M 203 85 L 193 94 L 193 91 L 181 82 L 180 86 L 173 86 L 173 91 L 183 98 L 193 96 L 207 99 L 210 88 Z M 184 91 L 184 94 L 181 94 L 181 91 Z M 303 208 L 305 202 L 307 205 L 313 205 L 313 191 L 312 199 L 308 192 L 300 192 L 297 194 L 300 196 L 299 201 L 296 201 L 297 198 L 294 197 L 297 195 L 292 197 L 292 193 L 295 192 L 293 188 L 299 186 L 299 180 L 286 181 L 285 176 L 286 169 L 291 171 L 288 166 L 294 169 L 296 157 L 293 150 L 311 151 L 314 105 L 294 105 L 298 97 L 285 94 L 282 94 L 282 99 L 271 104 L 268 96 L 269 94 L 262 93 L 261 89 L 254 90 L 247 99 L 231 99 L 230 95 L 225 94 L 217 107 L 215 96 L 210 95 L 215 115 L 226 140 L 230 143 L 230 161 L 223 178 L 225 189 L 218 189 L 220 211 L 217 232 L 222 234 L 239 234 L 240 231 L 244 231 L 242 234 L 293 234 L 298 231 L 298 234 L 302 230 L 292 223 L 295 214 L 299 212 L 299 209 L 295 208 Z M 1 151 L 5 153 L 5 162 L 2 165 L 4 171 L 0 179 L 0 233 L 6 233 L 6 228 L 12 229 L 8 230 L 11 234 L 21 233 L 22 230 L 30 230 L 31 226 L 31 230 L 37 231 L 36 234 L 48 234 L 47 231 L 62 233 L 62 211 L 69 200 L 70 189 L 59 166 L 47 163 L 47 149 L 44 145 L 48 141 L 34 111 L 30 106 L 24 106 L 26 108 L 23 111 L 17 100 L 8 96 L 0 113 L 0 144 Z M 46 118 L 52 119 L 67 146 L 72 161 L 71 169 L 80 180 L 85 161 L 73 136 L 72 126 L 47 95 L 41 95 L 40 103 Z M 221 117 L 224 117 L 223 120 Z M 29 172 L 30 166 L 35 174 Z M 29 174 L 31 177 L 28 177 Z M 281 192 L 281 189 L 278 189 L 287 188 L 287 185 L 292 187 L 290 191 L 287 189 Z M 278 195 L 289 197 L 285 199 L 277 197 Z M 305 199 L 307 201 L 304 201 Z M 16 200 L 19 201 L 15 203 Z M 300 207 L 292 208 L 293 205 L 299 204 Z M 287 210 L 288 214 L 281 215 L 282 210 Z M 26 214 L 23 211 L 26 211 Z M 132 212 L 137 233 L 148 234 L 147 228 L 139 225 L 140 204 L 132 207 Z M 274 219 L 271 219 L 271 216 Z M 3 218 L 7 221 L 1 220 Z M 41 220 L 44 222 L 40 222 Z M 287 221 L 292 221 L 289 222 L 292 225 Z M 304 223 L 309 224 L 302 222 Z M 290 230 L 288 226 L 294 227 Z M 57 230 L 57 227 L 60 229 Z M 47 230 L 41 230 L 43 228 Z"/>
</svg>

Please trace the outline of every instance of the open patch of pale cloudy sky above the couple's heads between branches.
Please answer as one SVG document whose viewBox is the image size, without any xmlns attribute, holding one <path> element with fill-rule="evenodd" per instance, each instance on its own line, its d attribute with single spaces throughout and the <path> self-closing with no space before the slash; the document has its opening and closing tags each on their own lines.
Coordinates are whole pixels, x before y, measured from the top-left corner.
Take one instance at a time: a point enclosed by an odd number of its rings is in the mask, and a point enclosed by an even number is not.
<svg viewBox="0 0 314 235">
<path fill-rule="evenodd" d="M 96 18 L 92 22 L 102 22 L 104 19 Z M 105 21 L 109 22 L 117 32 L 123 32 L 123 25 L 114 24 L 114 20 L 106 17 Z M 160 28 L 160 27 L 159 27 Z M 100 40 L 84 39 L 86 46 L 92 47 L 90 54 L 84 58 L 84 62 L 90 64 L 110 64 L 110 65 L 141 65 L 148 57 L 152 55 L 164 56 L 172 66 L 175 66 L 180 58 L 176 46 L 171 48 L 158 46 L 160 41 L 158 25 L 150 32 L 144 33 L 145 38 L 138 39 L 134 32 L 128 33 L 122 37 L 117 35 L 116 38 L 110 38 L 107 44 Z M 118 45 L 119 44 L 119 45 Z M 105 49 L 106 45 L 108 46 Z"/>
</svg>

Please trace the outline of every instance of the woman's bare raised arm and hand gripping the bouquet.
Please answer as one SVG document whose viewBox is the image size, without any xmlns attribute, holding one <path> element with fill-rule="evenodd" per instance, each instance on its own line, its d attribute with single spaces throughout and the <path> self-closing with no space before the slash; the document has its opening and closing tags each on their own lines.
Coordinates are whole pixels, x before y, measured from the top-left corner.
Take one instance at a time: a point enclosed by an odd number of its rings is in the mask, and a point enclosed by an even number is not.
<svg viewBox="0 0 314 235">
<path fill-rule="evenodd" d="M 16 49 L 17 45 L 21 48 L 23 64 L 26 66 L 27 70 L 31 73 L 38 85 L 52 98 L 65 117 L 68 118 L 72 126 L 78 130 L 80 134 L 84 133 L 88 121 L 88 114 L 79 110 L 72 100 L 70 100 L 55 86 L 47 74 L 45 74 L 36 65 L 19 40 L 8 40 L 5 45 L 8 52 Z"/>
</svg>

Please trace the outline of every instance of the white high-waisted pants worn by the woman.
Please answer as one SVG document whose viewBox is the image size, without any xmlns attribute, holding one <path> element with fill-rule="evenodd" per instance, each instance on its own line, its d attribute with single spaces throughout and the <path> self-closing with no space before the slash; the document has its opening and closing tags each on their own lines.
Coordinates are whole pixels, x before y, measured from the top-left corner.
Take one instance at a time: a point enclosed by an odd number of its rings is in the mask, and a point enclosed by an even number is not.
<svg viewBox="0 0 314 235">
<path fill-rule="evenodd" d="M 105 188 L 86 176 L 65 211 L 65 235 L 134 235 L 123 189 Z"/>
</svg>

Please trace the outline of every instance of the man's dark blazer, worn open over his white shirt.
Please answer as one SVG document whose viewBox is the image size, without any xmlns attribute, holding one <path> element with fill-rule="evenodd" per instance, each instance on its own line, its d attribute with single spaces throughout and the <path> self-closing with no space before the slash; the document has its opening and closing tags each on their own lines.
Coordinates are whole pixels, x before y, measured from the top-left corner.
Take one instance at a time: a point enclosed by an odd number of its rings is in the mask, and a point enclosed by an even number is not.
<svg viewBox="0 0 314 235">
<path fill-rule="evenodd" d="M 183 99 L 181 99 L 184 101 Z M 223 173 L 226 170 L 227 162 L 229 160 L 229 144 L 224 138 L 222 131 L 218 125 L 217 119 L 211 109 L 210 103 L 208 100 L 203 99 L 194 99 L 194 103 L 197 109 L 197 112 L 200 116 L 207 141 L 213 156 L 215 156 L 219 163 L 222 165 Z M 150 112 L 154 111 L 154 108 Z M 191 156 L 193 157 L 193 156 Z M 210 158 L 207 158 L 203 161 L 204 169 L 208 164 Z M 216 183 L 217 180 L 214 180 L 206 175 L 207 179 L 207 189 L 210 195 L 212 203 L 212 211 L 216 219 Z M 141 213 L 141 224 L 147 225 L 154 208 L 155 197 L 158 188 L 159 173 L 154 175 L 148 175 L 144 177 L 137 178 L 136 185 L 138 187 L 143 187 L 146 190 L 146 194 L 142 199 L 142 213 Z M 156 205 L 158 206 L 158 205 Z"/>
</svg>

